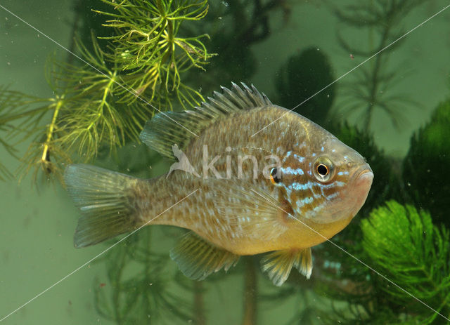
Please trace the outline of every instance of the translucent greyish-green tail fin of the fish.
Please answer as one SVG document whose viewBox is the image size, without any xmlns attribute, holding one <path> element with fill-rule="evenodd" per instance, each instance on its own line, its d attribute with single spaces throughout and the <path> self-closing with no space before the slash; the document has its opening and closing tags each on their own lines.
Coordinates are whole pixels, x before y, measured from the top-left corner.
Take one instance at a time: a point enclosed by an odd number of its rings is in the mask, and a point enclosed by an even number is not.
<svg viewBox="0 0 450 325">
<path fill-rule="evenodd" d="M 75 247 L 94 245 L 141 225 L 133 189 L 142 180 L 83 164 L 68 166 L 64 180 L 82 212 L 74 235 Z"/>
</svg>

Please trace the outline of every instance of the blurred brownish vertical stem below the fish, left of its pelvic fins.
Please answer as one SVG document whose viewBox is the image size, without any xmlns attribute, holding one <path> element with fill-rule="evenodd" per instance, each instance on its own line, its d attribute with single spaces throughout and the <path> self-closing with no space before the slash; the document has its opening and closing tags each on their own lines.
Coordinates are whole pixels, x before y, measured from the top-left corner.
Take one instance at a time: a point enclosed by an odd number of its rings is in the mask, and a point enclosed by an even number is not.
<svg viewBox="0 0 450 325">
<path fill-rule="evenodd" d="M 244 317 L 243 325 L 256 324 L 257 309 L 257 279 L 255 261 L 253 258 L 245 258 L 245 291 L 244 291 Z"/>
</svg>

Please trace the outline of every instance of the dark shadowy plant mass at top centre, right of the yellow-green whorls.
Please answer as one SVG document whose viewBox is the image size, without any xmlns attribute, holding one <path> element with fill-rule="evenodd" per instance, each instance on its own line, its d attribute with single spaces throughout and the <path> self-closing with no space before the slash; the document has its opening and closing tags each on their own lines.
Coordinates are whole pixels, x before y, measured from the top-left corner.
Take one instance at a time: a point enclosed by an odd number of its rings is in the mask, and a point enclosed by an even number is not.
<svg viewBox="0 0 450 325">
<path fill-rule="evenodd" d="M 248 81 L 257 71 L 257 57 L 252 48 L 271 37 L 274 25 L 282 13 L 284 24 L 290 18 L 292 4 L 287 0 L 226 0 L 210 1 L 210 11 L 198 25 L 198 33 L 211 37 L 211 51 L 218 55 L 203 76 L 203 91 L 214 91 L 215 85 L 231 81 Z M 195 29 L 196 30 L 196 29 Z M 214 81 L 214 82 L 212 82 Z"/>
</svg>

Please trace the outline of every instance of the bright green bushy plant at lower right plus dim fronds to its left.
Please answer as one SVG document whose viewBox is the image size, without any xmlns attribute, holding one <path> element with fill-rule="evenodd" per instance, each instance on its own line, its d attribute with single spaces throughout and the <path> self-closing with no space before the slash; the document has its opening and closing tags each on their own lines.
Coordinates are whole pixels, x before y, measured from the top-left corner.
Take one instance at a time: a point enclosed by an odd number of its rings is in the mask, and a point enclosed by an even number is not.
<svg viewBox="0 0 450 325">
<path fill-rule="evenodd" d="M 335 301 L 349 303 L 323 313 L 326 324 L 443 324 L 417 299 L 450 316 L 449 231 L 433 225 L 430 213 L 392 200 L 361 220 L 361 232 L 356 255 L 397 286 L 354 260 L 351 272 L 341 268 L 340 281 L 329 277 L 319 285 Z"/>
</svg>

